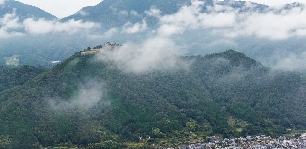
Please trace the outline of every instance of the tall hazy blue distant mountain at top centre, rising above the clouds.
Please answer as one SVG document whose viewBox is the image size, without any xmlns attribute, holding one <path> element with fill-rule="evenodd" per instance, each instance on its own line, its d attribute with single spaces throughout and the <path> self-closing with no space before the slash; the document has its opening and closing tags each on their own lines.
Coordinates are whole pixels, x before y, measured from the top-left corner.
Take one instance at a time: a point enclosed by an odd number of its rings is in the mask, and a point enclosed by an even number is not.
<svg viewBox="0 0 306 149">
<path fill-rule="evenodd" d="M 93 21 L 102 23 L 104 29 L 110 29 L 112 27 L 121 27 L 126 22 L 136 23 L 141 21 L 142 16 L 144 16 L 144 11 L 149 10 L 152 6 L 160 9 L 162 14 L 170 14 L 177 12 L 180 8 L 179 4 L 190 4 L 190 1 L 103 0 L 98 5 L 84 7 L 77 13 L 62 18 L 61 21 L 67 21 L 70 19 Z M 140 16 L 131 14 L 131 11 L 136 11 Z M 152 23 L 148 24 L 151 24 L 152 26 L 156 25 L 156 22 Z"/>
</svg>

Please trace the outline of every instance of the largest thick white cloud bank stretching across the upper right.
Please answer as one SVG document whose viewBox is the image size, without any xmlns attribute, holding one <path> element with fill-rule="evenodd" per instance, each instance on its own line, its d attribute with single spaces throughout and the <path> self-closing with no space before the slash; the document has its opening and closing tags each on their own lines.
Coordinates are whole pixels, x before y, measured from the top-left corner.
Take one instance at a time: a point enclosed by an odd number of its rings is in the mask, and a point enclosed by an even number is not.
<svg viewBox="0 0 306 149">
<path fill-rule="evenodd" d="M 208 12 L 202 12 L 206 7 Z M 161 16 L 157 31 L 160 35 L 182 34 L 186 30 L 211 29 L 213 34 L 226 37 L 253 36 L 282 40 L 292 36 L 306 36 L 306 10 L 292 4 L 290 9 L 270 7 L 257 10 L 252 3 L 242 8 L 221 5 L 204 6 L 204 2 L 192 0 L 177 13 Z"/>
</svg>

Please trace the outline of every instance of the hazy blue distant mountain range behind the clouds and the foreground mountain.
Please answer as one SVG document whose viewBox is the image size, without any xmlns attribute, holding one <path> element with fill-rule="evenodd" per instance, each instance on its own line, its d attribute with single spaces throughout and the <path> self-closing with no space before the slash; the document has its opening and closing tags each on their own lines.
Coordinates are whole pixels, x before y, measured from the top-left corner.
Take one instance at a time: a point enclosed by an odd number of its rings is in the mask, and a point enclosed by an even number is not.
<svg viewBox="0 0 306 149">
<path fill-rule="evenodd" d="M 203 12 L 208 11 L 206 7 L 207 5 L 214 5 L 213 0 L 205 0 L 204 2 L 205 5 L 203 6 Z M 223 6 L 231 6 L 232 8 L 242 8 L 245 5 L 244 1 L 225 0 L 218 3 Z M 255 8 L 252 7 L 252 9 L 256 10 L 269 8 L 269 6 L 263 4 L 252 4 L 255 6 Z M 84 32 L 78 32 L 74 35 L 68 35 L 67 33 L 50 33 L 46 35 L 27 35 L 14 39 L 1 39 L 0 57 L 21 55 L 21 65 L 28 64 L 51 67 L 54 65 L 50 64 L 50 61 L 63 60 L 71 54 L 91 45 L 99 45 L 107 41 L 121 44 L 130 41 L 141 42 L 147 38 L 147 33 L 126 34 L 120 31 L 121 27 L 127 22 L 135 24 L 141 22 L 145 18 L 147 26 L 154 31 L 154 29 L 159 25 L 159 20 L 153 16 L 148 16 L 145 11 L 154 8 L 159 9 L 161 15 L 167 15 L 176 13 L 182 5 L 190 5 L 190 1 L 103 0 L 98 5 L 84 7 L 75 14 L 60 20 L 61 22 L 65 22 L 70 19 L 81 19 L 101 24 L 101 27 L 95 28 L 94 31 L 86 34 Z M 55 16 L 44 12 L 37 7 L 24 5 L 13 0 L 5 1 L 5 5 L 1 9 L 3 11 L 0 13 L 1 15 L 12 13 L 13 8 L 17 8 L 16 13 L 20 16 L 21 20 L 30 16 L 34 16 L 35 18 L 44 17 L 48 20 L 56 19 Z M 289 6 L 287 9 L 289 9 Z M 247 11 L 248 9 L 244 10 Z M 116 28 L 117 32 L 115 32 L 113 36 L 108 37 L 105 33 L 107 33 L 111 28 Z M 185 51 L 178 52 L 181 55 L 214 53 L 226 49 L 234 49 L 243 52 L 248 56 L 252 56 L 254 59 L 262 62 L 265 66 L 271 67 L 278 67 L 282 57 L 285 57 L 290 53 L 301 55 L 306 51 L 306 43 L 303 42 L 305 39 L 304 37 L 290 37 L 284 40 L 267 40 L 266 38 L 258 38 L 256 36 L 237 36 L 231 38 L 211 34 L 211 29 L 203 29 L 201 31 L 188 31 L 173 38 L 176 43 L 180 44 L 180 46 L 188 45 L 188 48 L 185 49 Z M 33 56 L 34 58 L 31 59 Z M 278 58 L 278 56 L 281 58 Z M 0 61 L 3 63 L 3 60 Z M 288 67 L 284 69 L 288 69 Z M 296 68 L 295 70 L 305 72 L 304 67 Z"/>
</svg>

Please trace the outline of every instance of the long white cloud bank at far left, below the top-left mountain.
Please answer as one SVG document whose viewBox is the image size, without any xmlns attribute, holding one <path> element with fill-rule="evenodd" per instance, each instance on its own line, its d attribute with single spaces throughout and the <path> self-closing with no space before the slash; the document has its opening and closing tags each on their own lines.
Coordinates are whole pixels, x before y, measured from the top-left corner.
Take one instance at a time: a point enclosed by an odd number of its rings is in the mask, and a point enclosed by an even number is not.
<svg viewBox="0 0 306 149">
<path fill-rule="evenodd" d="M 27 18 L 19 20 L 16 8 L 12 13 L 5 14 L 0 18 L 0 38 L 22 36 L 26 34 L 41 35 L 47 33 L 66 32 L 69 34 L 90 31 L 100 27 L 100 24 L 84 22 L 83 20 L 68 20 L 59 22 L 57 20 L 46 20 L 44 18 Z"/>
</svg>

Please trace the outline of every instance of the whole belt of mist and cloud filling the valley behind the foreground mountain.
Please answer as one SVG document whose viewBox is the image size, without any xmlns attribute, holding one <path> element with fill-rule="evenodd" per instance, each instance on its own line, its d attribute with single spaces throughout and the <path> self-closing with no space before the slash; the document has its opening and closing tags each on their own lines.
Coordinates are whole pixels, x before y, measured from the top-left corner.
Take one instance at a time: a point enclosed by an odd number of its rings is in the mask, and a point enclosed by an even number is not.
<svg viewBox="0 0 306 149">
<path fill-rule="evenodd" d="M 113 8 L 119 18 L 135 16 L 136 20 L 140 21 L 127 21 L 121 26 L 110 29 L 106 29 L 101 23 L 83 20 L 72 19 L 60 22 L 33 17 L 21 20 L 16 15 L 18 9 L 12 9 L 11 13 L 0 18 L 0 38 L 18 37 L 20 39 L 18 42 L 22 43 L 26 41 L 22 38 L 28 36 L 38 39 L 48 35 L 52 36 L 50 38 L 56 38 L 58 34 L 65 36 L 63 42 L 58 43 L 61 46 L 49 48 L 56 51 L 54 53 L 65 51 L 65 54 L 57 54 L 46 61 L 63 60 L 88 46 L 93 47 L 108 41 L 124 45 L 122 47 L 137 47 L 134 50 L 119 49 L 121 52 L 108 54 L 118 65 L 124 64 L 135 72 L 151 68 L 154 70 L 157 66 L 166 67 L 165 64 L 175 65 L 175 56 L 215 53 L 227 49 L 243 52 L 268 67 L 296 70 L 291 68 L 302 65 L 303 60 L 298 60 L 298 63 L 293 63 L 292 60 L 295 59 L 293 55 L 304 52 L 306 46 L 302 42 L 306 38 L 306 21 L 304 21 L 306 11 L 303 4 L 292 3 L 269 7 L 237 1 L 214 1 L 212 5 L 200 0 L 190 2 L 190 5 L 181 5 L 177 12 L 170 14 L 162 12 L 155 6 L 144 12 Z M 90 15 L 84 10 L 80 10 L 77 14 Z M 156 24 L 149 24 L 152 20 Z M 294 41 L 301 45 L 286 46 Z M 46 40 L 44 43 L 50 42 Z M 36 47 L 38 46 L 41 45 L 36 43 Z M 27 45 L 26 49 L 39 49 L 36 47 Z M 280 48 L 283 48 L 281 49 L 283 53 L 292 53 L 291 56 L 286 54 L 280 56 L 278 54 Z M 69 52 L 66 49 L 69 49 Z M 4 53 L 3 56 L 12 55 Z M 43 53 L 48 52 L 43 51 Z"/>
</svg>

